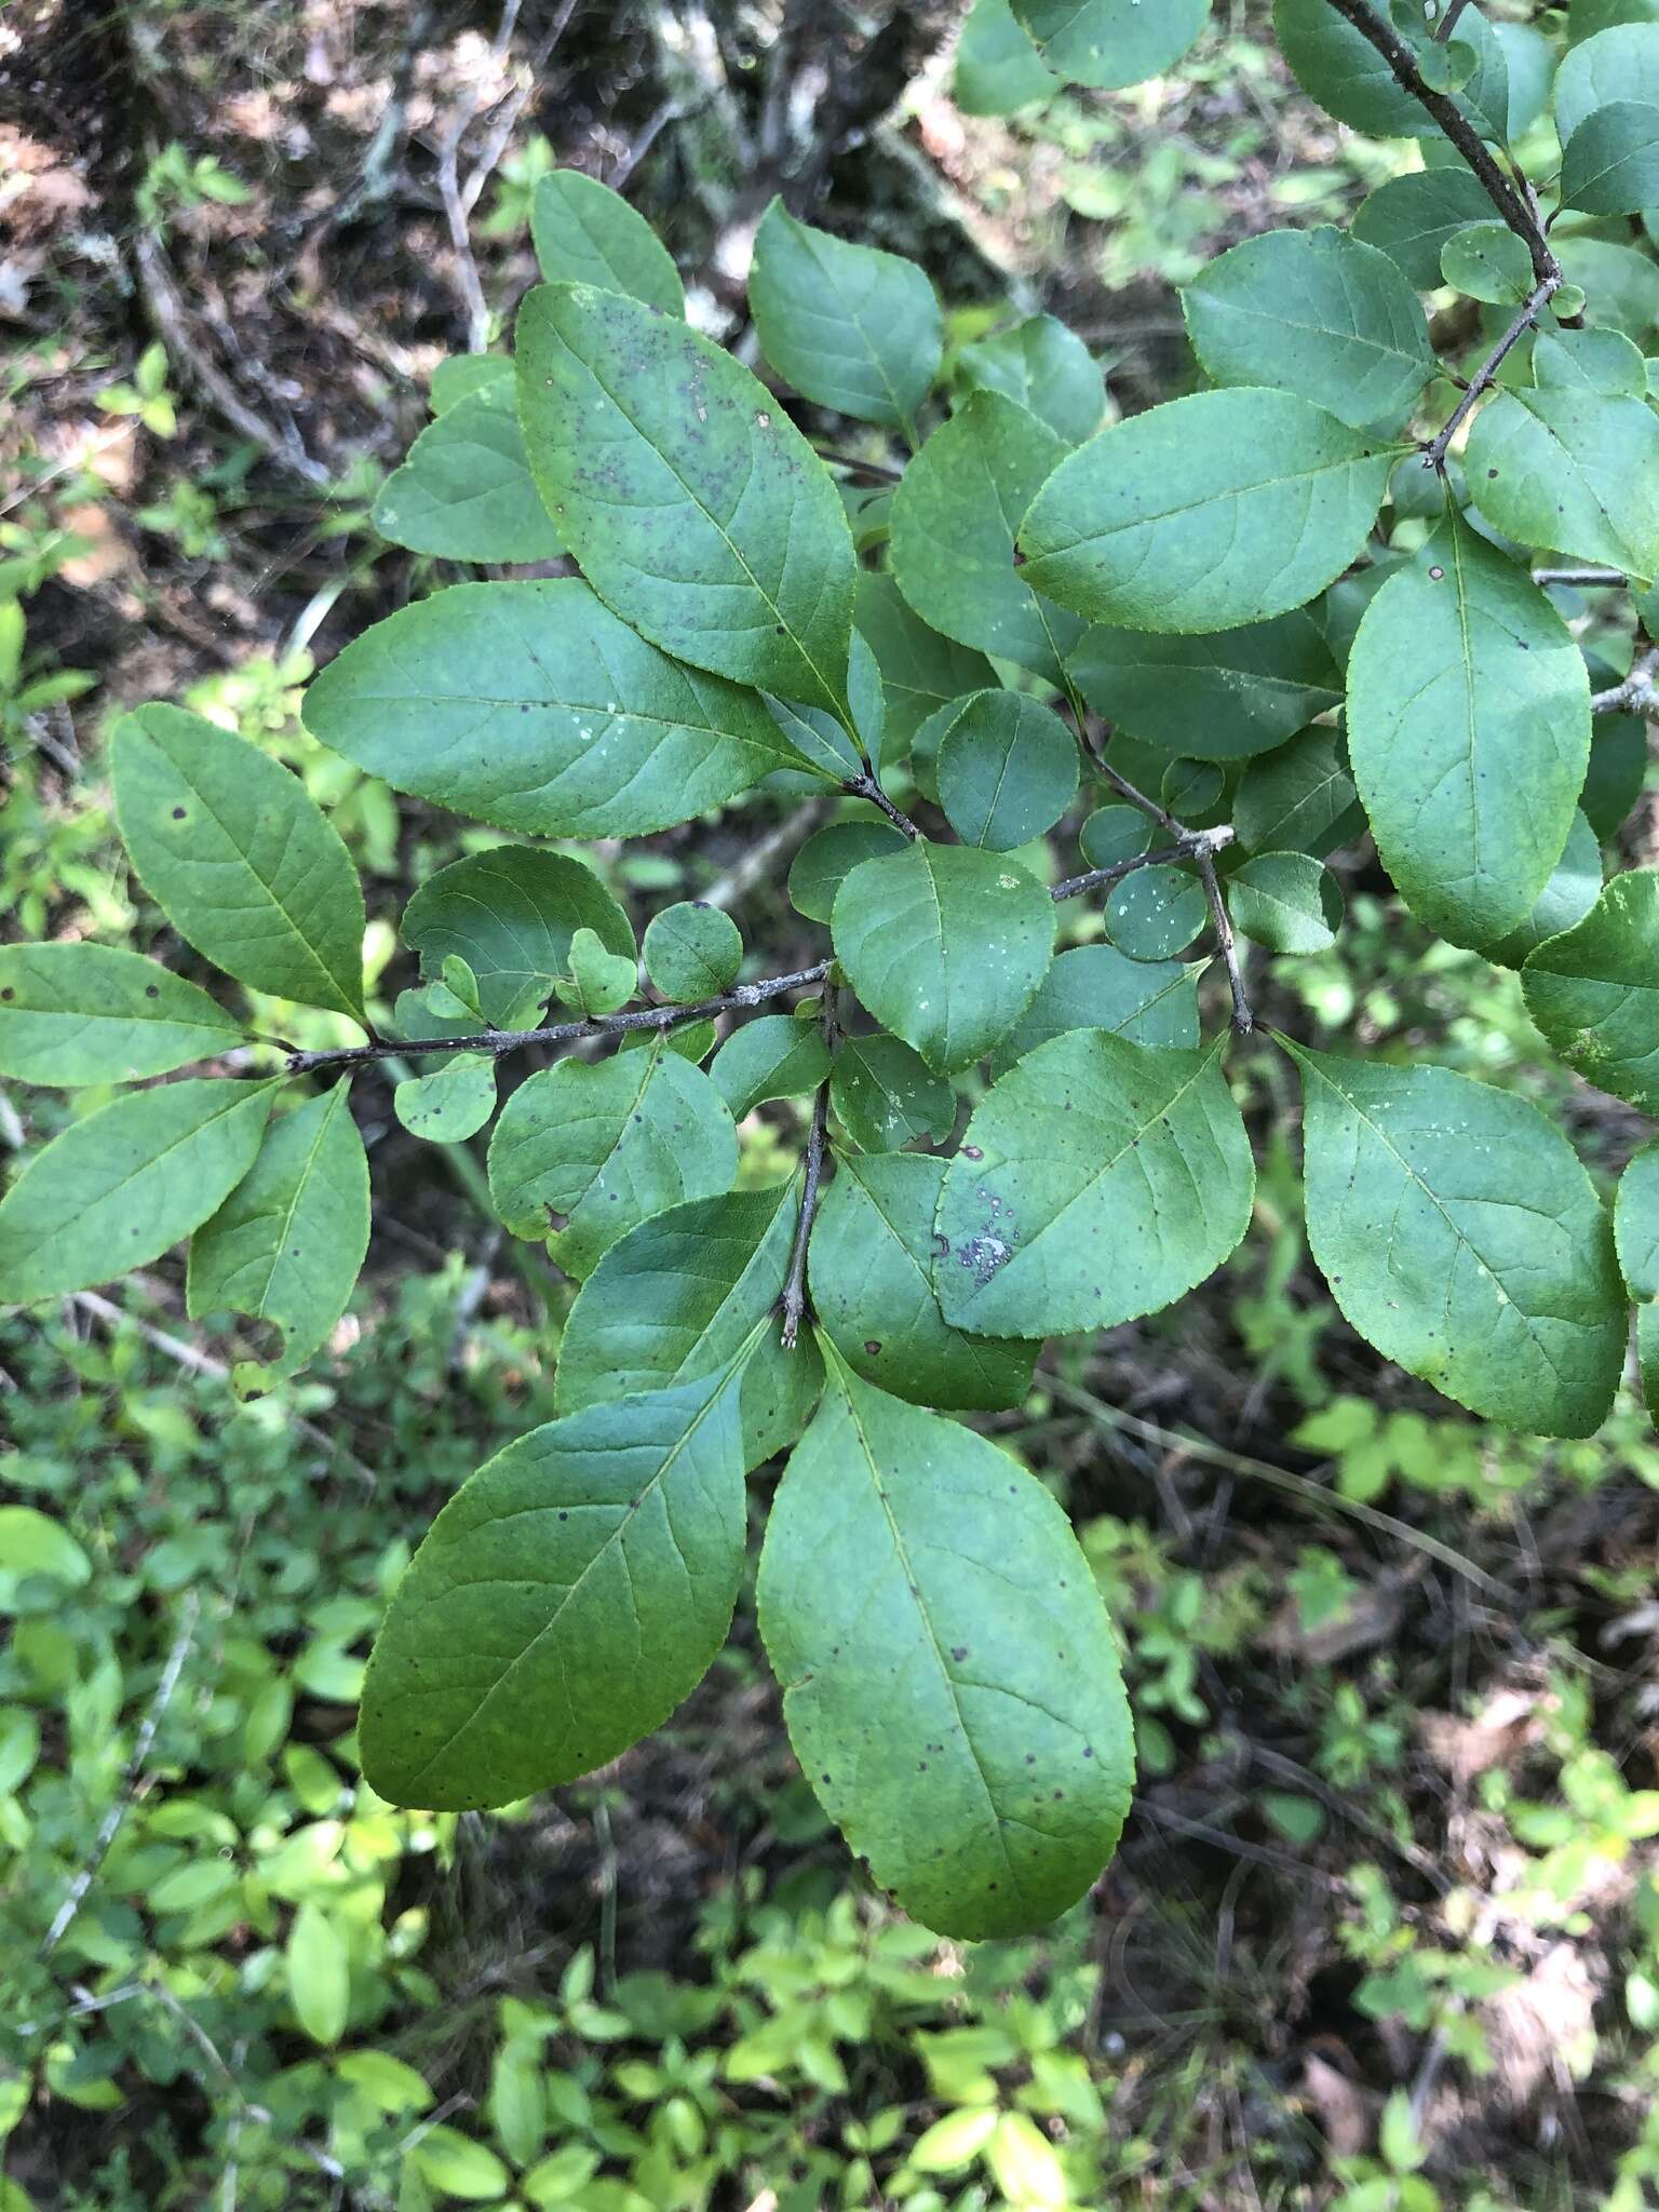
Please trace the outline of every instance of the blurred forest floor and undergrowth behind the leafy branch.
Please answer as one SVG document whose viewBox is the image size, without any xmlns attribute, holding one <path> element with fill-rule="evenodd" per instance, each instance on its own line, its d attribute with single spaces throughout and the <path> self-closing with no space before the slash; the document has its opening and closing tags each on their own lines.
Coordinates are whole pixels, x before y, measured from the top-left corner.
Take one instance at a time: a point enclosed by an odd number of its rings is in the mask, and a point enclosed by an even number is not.
<svg viewBox="0 0 1659 2212">
<path fill-rule="evenodd" d="M 458 573 L 369 507 L 436 363 L 533 281 L 549 168 L 626 188 L 739 349 L 783 188 L 925 261 L 958 341 L 1009 299 L 1066 316 L 1133 411 L 1192 378 L 1175 288 L 1210 254 L 1416 161 L 1301 100 L 1263 0 L 1124 95 L 1009 62 L 991 0 L 958 51 L 960 18 L 0 9 L 0 936 L 188 969 L 108 823 L 102 737 L 148 697 L 305 776 L 380 964 L 407 887 L 489 841 L 323 754 L 296 701 Z M 1641 726 L 1601 743 L 1635 790 Z M 597 860 L 646 911 L 717 896 L 772 971 L 814 956 L 779 896 L 803 832 L 759 799 Z M 1652 832 L 1644 803 L 1630 858 Z M 1610 1179 L 1632 1117 L 1535 1071 L 1515 978 L 1429 951 L 1369 847 L 1345 874 L 1340 949 L 1272 964 L 1270 1018 L 1548 1084 Z M 1141 1736 L 1124 1849 L 1042 1942 L 960 1951 L 860 1887 L 743 1610 L 588 1785 L 436 1820 L 365 1790 L 385 1595 L 551 1416 L 568 1287 L 489 1228 L 471 1148 L 365 1086 L 369 1272 L 257 1405 L 177 1270 L 0 1316 L 0 2212 L 1655 2203 L 1659 1447 L 1632 1402 L 1524 1442 L 1380 1365 L 1305 1261 L 1274 1062 L 1243 1079 L 1241 1261 L 991 1420 L 1084 1533 Z M 0 1091 L 0 1150 L 60 1110 L 24 1128 Z"/>
</svg>

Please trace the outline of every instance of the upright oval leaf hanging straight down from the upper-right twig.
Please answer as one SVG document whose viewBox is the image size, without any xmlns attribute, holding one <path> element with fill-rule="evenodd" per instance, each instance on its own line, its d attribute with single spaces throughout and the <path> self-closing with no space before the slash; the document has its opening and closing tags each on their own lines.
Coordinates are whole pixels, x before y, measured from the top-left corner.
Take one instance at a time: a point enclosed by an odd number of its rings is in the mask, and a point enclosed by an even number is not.
<svg viewBox="0 0 1659 2212">
<path fill-rule="evenodd" d="M 1590 759 L 1590 686 L 1562 617 L 1453 515 L 1371 602 L 1347 684 L 1354 781 L 1411 911 L 1453 945 L 1515 929 Z"/>
</svg>

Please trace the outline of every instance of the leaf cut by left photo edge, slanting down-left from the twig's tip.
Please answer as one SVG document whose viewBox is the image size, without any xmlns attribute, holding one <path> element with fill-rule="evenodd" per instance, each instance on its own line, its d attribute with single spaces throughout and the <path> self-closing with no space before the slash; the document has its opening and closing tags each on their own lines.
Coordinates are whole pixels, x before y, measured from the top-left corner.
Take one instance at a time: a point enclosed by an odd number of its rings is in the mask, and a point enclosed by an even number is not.
<svg viewBox="0 0 1659 2212">
<path fill-rule="evenodd" d="M 186 1077 L 71 1121 L 0 1203 L 0 1303 L 88 1290 L 199 1228 L 259 1152 L 276 1084 Z"/>
</svg>

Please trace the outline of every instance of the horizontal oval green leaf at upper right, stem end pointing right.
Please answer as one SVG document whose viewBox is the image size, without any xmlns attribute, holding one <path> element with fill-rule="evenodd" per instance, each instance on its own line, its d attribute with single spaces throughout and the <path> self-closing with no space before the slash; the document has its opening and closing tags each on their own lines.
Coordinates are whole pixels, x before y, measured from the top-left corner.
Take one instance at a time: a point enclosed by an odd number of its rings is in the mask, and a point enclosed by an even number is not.
<svg viewBox="0 0 1659 2212">
<path fill-rule="evenodd" d="M 1088 622 L 1265 622 L 1347 568 L 1400 451 L 1292 392 L 1194 392 L 1060 462 L 1020 529 L 1020 577 Z"/>
</svg>

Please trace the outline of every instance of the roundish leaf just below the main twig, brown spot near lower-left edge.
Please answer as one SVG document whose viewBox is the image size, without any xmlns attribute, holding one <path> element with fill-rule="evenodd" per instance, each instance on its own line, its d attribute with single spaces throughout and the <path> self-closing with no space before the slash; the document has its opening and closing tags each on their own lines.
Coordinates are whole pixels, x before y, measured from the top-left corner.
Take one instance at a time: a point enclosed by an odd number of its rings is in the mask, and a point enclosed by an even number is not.
<svg viewBox="0 0 1659 2212">
<path fill-rule="evenodd" d="M 526 1077 L 489 1139 L 489 1194 L 513 1237 L 546 1237 L 566 1274 L 648 1214 L 712 1199 L 737 1177 L 737 1130 L 701 1068 L 661 1037 Z"/>
</svg>

